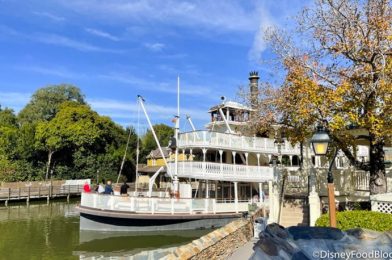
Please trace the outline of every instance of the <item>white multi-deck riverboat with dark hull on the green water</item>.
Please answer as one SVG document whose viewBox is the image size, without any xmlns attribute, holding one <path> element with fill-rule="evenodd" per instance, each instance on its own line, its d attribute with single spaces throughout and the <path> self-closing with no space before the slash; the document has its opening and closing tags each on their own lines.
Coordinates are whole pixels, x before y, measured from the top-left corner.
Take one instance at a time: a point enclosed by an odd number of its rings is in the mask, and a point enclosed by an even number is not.
<svg viewBox="0 0 392 260">
<path fill-rule="evenodd" d="M 251 92 L 257 92 L 257 73 L 252 72 L 249 79 Z M 287 165 L 298 169 L 292 162 L 300 154 L 299 147 L 285 140 L 276 145 L 273 136 L 252 135 L 247 126 L 253 108 L 223 97 L 220 104 L 209 110 L 211 120 L 205 130 L 194 129 L 189 119 L 193 131 L 180 132 L 178 107 L 172 153 L 166 156 L 144 99 L 139 96 L 138 101 L 163 164 L 149 176 L 147 193 L 128 192 L 130 196 L 83 193 L 79 206 L 81 229 L 156 231 L 221 226 L 248 211 L 249 203 L 268 207 L 264 195 L 271 193 L 276 178 L 276 167 L 269 163 L 274 155 L 286 156 L 290 159 Z M 155 180 L 163 172 L 170 177 L 165 186 L 169 184 L 171 191 L 153 191 Z"/>
</svg>

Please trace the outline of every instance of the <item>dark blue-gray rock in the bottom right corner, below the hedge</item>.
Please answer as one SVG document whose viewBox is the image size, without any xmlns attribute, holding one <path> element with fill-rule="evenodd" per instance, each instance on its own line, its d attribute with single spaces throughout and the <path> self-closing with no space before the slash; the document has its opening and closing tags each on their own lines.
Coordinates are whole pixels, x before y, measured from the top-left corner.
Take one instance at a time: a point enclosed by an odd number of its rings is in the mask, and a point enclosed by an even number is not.
<svg viewBox="0 0 392 260">
<path fill-rule="evenodd" d="M 384 259 L 392 258 L 392 231 L 271 224 L 260 233 L 251 259 Z M 383 255 L 375 255 L 375 254 Z"/>
</svg>

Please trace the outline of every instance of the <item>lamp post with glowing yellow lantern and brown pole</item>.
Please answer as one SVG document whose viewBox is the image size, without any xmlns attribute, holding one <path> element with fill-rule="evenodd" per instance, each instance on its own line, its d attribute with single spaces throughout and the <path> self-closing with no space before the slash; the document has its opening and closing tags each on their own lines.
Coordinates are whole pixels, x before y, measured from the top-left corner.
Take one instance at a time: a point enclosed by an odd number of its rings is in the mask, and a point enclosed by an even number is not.
<svg viewBox="0 0 392 260">
<path fill-rule="evenodd" d="M 328 132 L 322 126 L 317 127 L 316 133 L 310 139 L 315 155 L 326 155 L 328 151 L 328 145 L 331 139 Z M 328 205 L 329 205 L 329 224 L 331 227 L 336 227 L 336 209 L 335 209 L 335 185 L 333 183 L 332 166 L 335 162 L 335 158 L 338 154 L 336 149 L 334 157 L 328 168 Z"/>
</svg>

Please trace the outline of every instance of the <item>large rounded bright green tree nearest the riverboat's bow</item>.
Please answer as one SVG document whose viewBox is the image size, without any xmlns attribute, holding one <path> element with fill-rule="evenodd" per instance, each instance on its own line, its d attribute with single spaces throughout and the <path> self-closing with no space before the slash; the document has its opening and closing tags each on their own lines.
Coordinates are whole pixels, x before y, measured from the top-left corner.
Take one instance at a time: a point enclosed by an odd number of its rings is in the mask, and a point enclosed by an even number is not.
<svg viewBox="0 0 392 260">
<path fill-rule="evenodd" d="M 133 165 L 137 138 L 134 131 L 131 137 L 126 163 Z M 50 177 L 56 162 L 59 177 L 94 177 L 99 170 L 101 177 L 113 178 L 121 163 L 126 138 L 125 130 L 110 118 L 75 102 L 63 103 L 52 120 L 38 123 L 35 136 L 36 147 L 47 153 L 45 179 Z"/>
</svg>

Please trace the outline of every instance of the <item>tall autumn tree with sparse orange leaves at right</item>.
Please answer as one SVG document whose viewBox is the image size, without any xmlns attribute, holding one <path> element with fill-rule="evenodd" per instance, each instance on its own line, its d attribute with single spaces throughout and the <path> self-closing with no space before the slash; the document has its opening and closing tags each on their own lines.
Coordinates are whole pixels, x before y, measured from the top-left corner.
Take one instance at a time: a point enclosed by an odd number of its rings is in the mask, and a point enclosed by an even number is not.
<svg viewBox="0 0 392 260">
<path fill-rule="evenodd" d="M 383 148 L 392 136 L 390 1 L 319 0 L 301 13 L 298 29 L 294 36 L 267 32 L 287 75 L 281 87 L 261 89 L 259 115 L 269 117 L 257 127 L 279 123 L 292 141 L 303 142 L 316 125 L 324 125 L 350 163 L 370 172 L 371 194 L 386 192 Z M 369 145 L 369 162 L 356 158 L 359 142 Z"/>
</svg>

